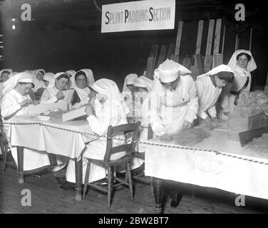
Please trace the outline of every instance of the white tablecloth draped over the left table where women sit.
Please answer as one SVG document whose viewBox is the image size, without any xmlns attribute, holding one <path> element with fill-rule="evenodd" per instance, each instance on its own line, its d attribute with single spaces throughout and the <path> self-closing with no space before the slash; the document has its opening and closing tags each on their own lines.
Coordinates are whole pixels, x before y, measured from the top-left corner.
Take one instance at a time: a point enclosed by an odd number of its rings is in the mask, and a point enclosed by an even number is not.
<svg viewBox="0 0 268 228">
<path fill-rule="evenodd" d="M 7 133 L 12 146 L 29 147 L 35 150 L 45 150 L 56 155 L 81 159 L 81 152 L 86 142 L 95 140 L 95 136 L 82 135 L 57 128 L 92 133 L 86 119 L 63 123 L 61 119 L 40 121 L 37 118 L 16 117 L 11 123 L 43 123 L 43 125 L 10 125 Z M 54 127 L 54 128 L 51 128 Z M 56 127 L 56 128 L 55 128 Z"/>
</svg>

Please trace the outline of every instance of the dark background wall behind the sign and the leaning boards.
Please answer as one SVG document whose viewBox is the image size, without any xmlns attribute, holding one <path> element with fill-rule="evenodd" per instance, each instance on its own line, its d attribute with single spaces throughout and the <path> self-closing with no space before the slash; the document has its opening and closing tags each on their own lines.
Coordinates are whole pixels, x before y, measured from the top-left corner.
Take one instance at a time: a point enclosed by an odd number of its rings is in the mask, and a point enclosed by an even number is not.
<svg viewBox="0 0 268 228">
<path fill-rule="evenodd" d="M 197 2 L 200 4 L 200 1 Z M 201 1 L 201 4 L 205 4 L 205 2 L 207 1 Z M 94 15 L 96 15 L 94 19 L 87 19 L 81 13 L 79 13 L 78 16 L 80 17 L 78 18 L 66 17 L 60 13 L 57 16 L 51 16 L 52 14 L 40 16 L 41 10 L 51 12 L 49 9 L 52 8 L 49 8 L 49 6 L 46 9 L 36 6 L 36 11 L 33 11 L 33 17 L 36 16 L 35 21 L 17 21 L 15 23 L 16 29 L 13 31 L 10 19 L 11 16 L 19 14 L 19 11 L 15 14 L 12 9 L 4 11 L 2 8 L 1 17 L 5 23 L 1 24 L 1 33 L 4 33 L 5 59 L 0 61 L 0 68 L 12 68 L 14 71 L 44 68 L 46 71 L 53 73 L 68 69 L 77 71 L 81 68 L 91 68 L 96 79 L 103 77 L 113 79 L 121 88 L 123 78 L 128 73 L 138 73 L 138 75 L 143 73 L 146 68 L 148 53 L 154 43 L 175 43 L 177 21 L 185 21 L 182 30 L 180 63 L 187 54 L 195 53 L 199 19 L 205 20 L 201 49 L 203 55 L 205 54 L 209 19 L 230 16 L 233 24 L 239 24 L 234 21 L 234 10 L 228 15 L 223 14 L 226 11 L 219 11 L 215 8 L 202 8 L 202 10 L 201 8 L 195 8 L 195 6 L 199 6 L 197 4 L 184 6 L 187 6 L 186 9 L 179 6 L 176 9 L 175 29 L 123 33 L 100 33 L 101 14 L 96 8 L 94 8 Z M 92 7 L 95 6 L 87 7 L 93 9 Z M 228 7 L 228 9 L 234 9 L 233 4 Z M 256 7 L 259 7 L 259 5 Z M 39 9 L 39 12 L 37 9 Z M 74 10 L 74 8 L 72 9 Z M 239 24 L 241 27 L 254 26 L 252 53 L 258 68 L 252 73 L 253 86 L 264 86 L 267 77 L 268 36 L 265 24 L 267 24 L 265 17 L 257 17 L 256 15 L 249 16 L 244 24 Z M 234 31 L 227 28 L 224 50 L 224 62 L 226 64 L 234 52 L 234 43 Z M 220 46 L 220 50 L 221 48 Z M 242 34 L 239 48 L 249 48 L 249 31 Z"/>
</svg>

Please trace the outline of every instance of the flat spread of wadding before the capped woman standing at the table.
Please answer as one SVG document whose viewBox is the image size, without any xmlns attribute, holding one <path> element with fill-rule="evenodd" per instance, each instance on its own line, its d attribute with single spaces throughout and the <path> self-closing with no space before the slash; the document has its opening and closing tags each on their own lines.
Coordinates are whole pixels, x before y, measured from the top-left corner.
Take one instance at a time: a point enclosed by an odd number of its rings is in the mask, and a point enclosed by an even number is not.
<svg viewBox="0 0 268 228">
<path fill-rule="evenodd" d="M 221 120 L 207 121 L 187 130 L 180 131 L 170 137 L 160 138 L 160 140 L 172 141 L 177 145 L 193 146 L 210 137 L 210 131 L 217 128 L 222 123 Z"/>
</svg>

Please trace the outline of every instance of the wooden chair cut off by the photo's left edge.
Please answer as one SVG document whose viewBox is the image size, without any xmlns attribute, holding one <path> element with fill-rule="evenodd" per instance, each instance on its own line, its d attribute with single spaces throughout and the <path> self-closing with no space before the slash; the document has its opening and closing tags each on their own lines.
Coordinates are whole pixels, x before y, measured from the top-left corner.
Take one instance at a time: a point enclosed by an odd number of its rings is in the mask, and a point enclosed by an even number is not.
<svg viewBox="0 0 268 228">
<path fill-rule="evenodd" d="M 6 170 L 6 165 L 11 165 L 12 167 L 14 167 L 14 163 L 7 162 L 7 156 L 9 155 L 9 142 L 6 140 L 6 135 L 3 129 L 3 121 L 1 117 L 0 117 L 0 147 L 1 147 L 2 159 L 3 159 L 0 172 L 1 174 L 4 174 Z"/>
</svg>

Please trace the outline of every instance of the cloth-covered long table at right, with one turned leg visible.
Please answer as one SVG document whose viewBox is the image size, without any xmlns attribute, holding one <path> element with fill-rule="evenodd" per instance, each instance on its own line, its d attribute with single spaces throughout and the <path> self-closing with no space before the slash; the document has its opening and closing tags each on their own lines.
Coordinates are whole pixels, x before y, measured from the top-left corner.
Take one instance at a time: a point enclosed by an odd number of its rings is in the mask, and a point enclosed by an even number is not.
<svg viewBox="0 0 268 228">
<path fill-rule="evenodd" d="M 154 177 L 157 213 L 163 212 L 163 180 L 268 199 L 267 173 L 268 151 L 246 150 L 239 142 L 227 140 L 227 130 L 222 129 L 213 130 L 195 147 L 154 138 L 145 150 L 145 175 Z"/>
</svg>

